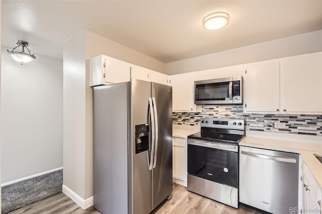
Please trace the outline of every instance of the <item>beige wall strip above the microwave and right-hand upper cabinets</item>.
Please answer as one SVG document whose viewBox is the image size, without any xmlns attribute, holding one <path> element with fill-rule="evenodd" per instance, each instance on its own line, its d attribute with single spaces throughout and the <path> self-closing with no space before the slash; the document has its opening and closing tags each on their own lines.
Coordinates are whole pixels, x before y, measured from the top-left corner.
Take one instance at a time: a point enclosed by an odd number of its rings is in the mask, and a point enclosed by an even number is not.
<svg viewBox="0 0 322 214">
<path fill-rule="evenodd" d="M 175 75 L 322 51 L 322 30 L 166 63 Z"/>
</svg>

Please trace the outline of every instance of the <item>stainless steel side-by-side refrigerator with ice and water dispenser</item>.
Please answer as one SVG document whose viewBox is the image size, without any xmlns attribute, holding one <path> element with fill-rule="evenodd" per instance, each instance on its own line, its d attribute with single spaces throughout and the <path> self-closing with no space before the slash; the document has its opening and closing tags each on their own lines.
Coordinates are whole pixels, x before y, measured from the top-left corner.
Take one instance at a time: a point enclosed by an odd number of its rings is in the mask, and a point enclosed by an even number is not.
<svg viewBox="0 0 322 214">
<path fill-rule="evenodd" d="M 172 197 L 172 87 L 93 88 L 94 207 L 147 214 Z"/>
</svg>

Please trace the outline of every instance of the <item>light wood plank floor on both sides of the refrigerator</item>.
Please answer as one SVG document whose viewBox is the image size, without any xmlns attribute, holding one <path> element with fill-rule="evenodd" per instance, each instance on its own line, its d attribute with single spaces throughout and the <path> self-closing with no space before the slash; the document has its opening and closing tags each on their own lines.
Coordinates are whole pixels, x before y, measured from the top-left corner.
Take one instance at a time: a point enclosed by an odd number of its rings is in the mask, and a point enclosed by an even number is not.
<svg viewBox="0 0 322 214">
<path fill-rule="evenodd" d="M 151 214 L 262 214 L 262 212 L 240 206 L 239 209 L 232 208 L 216 202 L 201 195 L 189 192 L 184 186 L 173 184 L 173 197 L 164 201 Z M 10 214 L 99 214 L 98 210 L 90 207 L 83 210 L 64 193 L 52 196 L 45 200 L 31 204 L 24 208 L 10 212 Z M 112 213 L 106 213 L 112 214 Z M 120 214 L 120 213 L 119 213 Z"/>
</svg>

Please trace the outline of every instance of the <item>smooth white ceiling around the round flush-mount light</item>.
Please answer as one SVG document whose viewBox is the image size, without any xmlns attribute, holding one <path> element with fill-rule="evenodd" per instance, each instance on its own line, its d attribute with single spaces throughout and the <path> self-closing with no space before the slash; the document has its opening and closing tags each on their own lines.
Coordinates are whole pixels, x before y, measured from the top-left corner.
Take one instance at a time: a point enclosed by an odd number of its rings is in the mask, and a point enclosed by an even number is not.
<svg viewBox="0 0 322 214">
<path fill-rule="evenodd" d="M 202 28 L 214 12 L 228 26 Z M 2 45 L 61 57 L 90 30 L 165 63 L 322 29 L 322 1 L 2 1 Z M 322 38 L 321 38 L 322 39 Z"/>
</svg>

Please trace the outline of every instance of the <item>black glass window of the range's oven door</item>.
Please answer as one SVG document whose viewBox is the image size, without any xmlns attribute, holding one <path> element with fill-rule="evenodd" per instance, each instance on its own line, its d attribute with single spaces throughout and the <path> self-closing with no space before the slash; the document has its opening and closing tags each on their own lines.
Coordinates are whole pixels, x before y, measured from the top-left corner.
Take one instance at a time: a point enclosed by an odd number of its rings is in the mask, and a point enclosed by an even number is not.
<svg viewBox="0 0 322 214">
<path fill-rule="evenodd" d="M 238 154 L 188 145 L 188 174 L 238 187 Z"/>
</svg>

